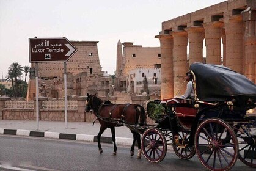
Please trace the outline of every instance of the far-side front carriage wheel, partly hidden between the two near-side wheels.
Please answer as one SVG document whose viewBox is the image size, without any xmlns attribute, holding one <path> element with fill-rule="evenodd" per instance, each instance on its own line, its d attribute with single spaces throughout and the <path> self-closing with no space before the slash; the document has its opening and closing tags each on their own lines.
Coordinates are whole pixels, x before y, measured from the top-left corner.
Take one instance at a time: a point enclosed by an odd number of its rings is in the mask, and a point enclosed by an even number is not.
<svg viewBox="0 0 256 171">
<path fill-rule="evenodd" d="M 174 135 L 174 142 L 172 148 L 174 148 L 175 154 L 181 159 L 190 159 L 195 154 L 195 148 L 189 147 L 190 134 L 180 131 L 177 135 Z"/>
</svg>

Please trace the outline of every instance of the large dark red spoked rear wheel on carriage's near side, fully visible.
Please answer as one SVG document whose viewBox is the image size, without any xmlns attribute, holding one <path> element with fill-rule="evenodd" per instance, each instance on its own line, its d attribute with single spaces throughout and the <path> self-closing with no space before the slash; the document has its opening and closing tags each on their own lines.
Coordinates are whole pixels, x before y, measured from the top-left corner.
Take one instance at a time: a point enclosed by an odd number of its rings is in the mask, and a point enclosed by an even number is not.
<svg viewBox="0 0 256 171">
<path fill-rule="evenodd" d="M 238 140 L 233 129 L 219 118 L 200 123 L 195 134 L 197 156 L 209 170 L 229 170 L 238 157 Z"/>
</svg>

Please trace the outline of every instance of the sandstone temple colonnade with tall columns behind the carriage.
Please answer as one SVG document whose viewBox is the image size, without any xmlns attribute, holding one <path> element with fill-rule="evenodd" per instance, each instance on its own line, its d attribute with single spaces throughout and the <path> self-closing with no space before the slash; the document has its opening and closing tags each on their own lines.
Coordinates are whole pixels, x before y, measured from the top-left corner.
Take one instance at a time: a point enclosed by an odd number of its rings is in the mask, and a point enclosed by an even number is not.
<svg viewBox="0 0 256 171">
<path fill-rule="evenodd" d="M 155 38 L 161 45 L 162 99 L 173 97 L 189 65 L 203 60 L 207 64 L 223 64 L 256 82 L 255 0 L 224 1 L 163 21 Z"/>
</svg>

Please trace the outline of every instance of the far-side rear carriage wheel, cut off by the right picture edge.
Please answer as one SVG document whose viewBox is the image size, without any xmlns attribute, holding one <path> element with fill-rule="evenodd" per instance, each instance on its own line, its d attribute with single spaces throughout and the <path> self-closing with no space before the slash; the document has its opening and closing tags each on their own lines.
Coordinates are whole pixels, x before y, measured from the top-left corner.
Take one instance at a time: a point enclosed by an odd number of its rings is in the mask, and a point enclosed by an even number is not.
<svg viewBox="0 0 256 171">
<path fill-rule="evenodd" d="M 248 117 L 249 123 L 238 123 L 233 126 L 238 138 L 238 159 L 250 167 L 256 168 L 256 117 Z"/>
</svg>

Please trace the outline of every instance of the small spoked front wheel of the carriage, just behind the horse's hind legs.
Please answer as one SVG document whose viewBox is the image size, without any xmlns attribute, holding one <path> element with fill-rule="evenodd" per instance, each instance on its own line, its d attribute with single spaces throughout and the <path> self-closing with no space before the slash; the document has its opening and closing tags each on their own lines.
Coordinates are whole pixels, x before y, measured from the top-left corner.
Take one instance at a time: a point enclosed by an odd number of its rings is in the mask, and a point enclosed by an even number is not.
<svg viewBox="0 0 256 171">
<path fill-rule="evenodd" d="M 141 138 L 141 149 L 145 158 L 154 163 L 161 162 L 166 156 L 167 144 L 163 133 L 157 128 L 148 128 Z"/>
</svg>

